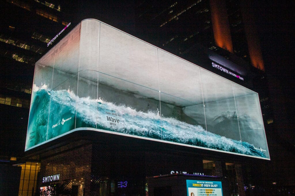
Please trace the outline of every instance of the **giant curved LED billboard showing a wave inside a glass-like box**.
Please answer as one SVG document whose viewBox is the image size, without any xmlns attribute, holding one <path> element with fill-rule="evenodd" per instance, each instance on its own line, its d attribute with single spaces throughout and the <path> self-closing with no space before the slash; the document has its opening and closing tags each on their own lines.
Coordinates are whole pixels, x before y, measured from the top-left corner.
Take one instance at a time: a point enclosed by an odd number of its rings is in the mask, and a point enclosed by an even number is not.
<svg viewBox="0 0 295 196">
<path fill-rule="evenodd" d="M 269 159 L 257 93 L 94 19 L 36 63 L 25 150 L 78 130 Z"/>
</svg>

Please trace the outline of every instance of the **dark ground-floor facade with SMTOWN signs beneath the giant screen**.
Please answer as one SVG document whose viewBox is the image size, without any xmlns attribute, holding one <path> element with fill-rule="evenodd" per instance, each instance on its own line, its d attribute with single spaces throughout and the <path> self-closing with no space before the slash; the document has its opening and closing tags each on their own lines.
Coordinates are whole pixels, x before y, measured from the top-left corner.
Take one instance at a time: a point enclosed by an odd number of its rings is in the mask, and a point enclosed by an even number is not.
<svg viewBox="0 0 295 196">
<path fill-rule="evenodd" d="M 163 190 L 164 195 L 187 195 L 185 179 L 219 181 L 223 195 L 245 195 L 241 164 L 228 163 L 218 153 L 210 157 L 210 151 L 144 139 L 85 135 L 39 152 L 36 195 L 156 196 Z"/>
</svg>

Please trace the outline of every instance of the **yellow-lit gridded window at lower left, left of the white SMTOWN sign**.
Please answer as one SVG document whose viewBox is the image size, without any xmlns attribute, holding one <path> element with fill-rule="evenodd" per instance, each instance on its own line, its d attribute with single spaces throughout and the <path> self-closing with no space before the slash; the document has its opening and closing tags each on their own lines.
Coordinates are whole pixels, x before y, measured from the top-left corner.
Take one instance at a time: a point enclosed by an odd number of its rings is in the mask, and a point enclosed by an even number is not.
<svg viewBox="0 0 295 196">
<path fill-rule="evenodd" d="M 19 195 L 31 196 L 35 195 L 37 187 L 37 175 L 40 172 L 40 163 L 26 162 L 22 165 L 22 173 L 19 183 Z"/>
</svg>

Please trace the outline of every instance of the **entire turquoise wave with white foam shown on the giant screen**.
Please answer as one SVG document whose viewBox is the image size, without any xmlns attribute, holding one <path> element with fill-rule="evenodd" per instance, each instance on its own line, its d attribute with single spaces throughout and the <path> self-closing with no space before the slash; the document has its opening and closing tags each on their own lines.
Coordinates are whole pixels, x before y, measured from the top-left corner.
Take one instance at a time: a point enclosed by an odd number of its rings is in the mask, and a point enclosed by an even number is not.
<svg viewBox="0 0 295 196">
<path fill-rule="evenodd" d="M 35 86 L 26 149 L 75 129 L 75 124 L 76 128 L 92 127 L 214 150 L 266 157 L 253 144 L 208 132 L 200 125 L 160 116 L 158 111 L 142 112 L 126 105 L 108 102 L 103 98 L 78 97 L 70 90 L 48 91 L 47 88 Z"/>
</svg>

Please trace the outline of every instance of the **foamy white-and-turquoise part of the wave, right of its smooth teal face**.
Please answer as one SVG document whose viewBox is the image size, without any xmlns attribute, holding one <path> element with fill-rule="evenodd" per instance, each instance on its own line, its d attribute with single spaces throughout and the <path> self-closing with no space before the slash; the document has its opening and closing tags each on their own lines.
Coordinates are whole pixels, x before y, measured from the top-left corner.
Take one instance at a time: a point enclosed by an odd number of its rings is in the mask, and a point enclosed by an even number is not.
<svg viewBox="0 0 295 196">
<path fill-rule="evenodd" d="M 46 85 L 42 85 L 42 89 L 47 89 L 45 87 Z M 159 111 L 137 111 L 126 105 L 108 102 L 101 97 L 80 98 L 69 89 L 52 91 L 51 101 L 68 107 L 69 111 L 76 111 L 77 118 L 93 127 L 156 139 L 163 138 L 184 144 L 197 145 L 197 142 L 201 142 L 202 147 L 257 156 L 256 152 L 253 153 L 254 146 L 247 142 L 243 142 L 242 145 L 241 141 L 208 132 L 200 125 L 189 124 L 172 117 L 163 117 Z M 111 124 L 106 116 L 119 119 L 119 123 Z"/>
</svg>

